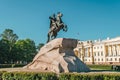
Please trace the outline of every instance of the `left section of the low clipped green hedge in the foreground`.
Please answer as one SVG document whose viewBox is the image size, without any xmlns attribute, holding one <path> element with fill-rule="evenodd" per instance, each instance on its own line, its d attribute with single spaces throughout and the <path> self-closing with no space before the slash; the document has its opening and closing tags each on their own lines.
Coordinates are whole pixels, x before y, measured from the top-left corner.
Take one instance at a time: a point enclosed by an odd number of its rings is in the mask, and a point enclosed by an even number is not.
<svg viewBox="0 0 120 80">
<path fill-rule="evenodd" d="M 55 73 L 6 72 L 3 80 L 57 80 Z"/>
</svg>

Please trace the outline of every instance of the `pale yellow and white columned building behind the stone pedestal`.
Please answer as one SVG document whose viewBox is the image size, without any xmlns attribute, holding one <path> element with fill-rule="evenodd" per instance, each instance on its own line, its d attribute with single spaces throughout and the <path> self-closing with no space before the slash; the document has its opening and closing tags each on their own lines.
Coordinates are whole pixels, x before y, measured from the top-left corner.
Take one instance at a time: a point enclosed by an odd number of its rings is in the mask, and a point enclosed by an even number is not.
<svg viewBox="0 0 120 80">
<path fill-rule="evenodd" d="M 75 53 L 86 64 L 120 64 L 120 37 L 79 41 Z"/>
</svg>

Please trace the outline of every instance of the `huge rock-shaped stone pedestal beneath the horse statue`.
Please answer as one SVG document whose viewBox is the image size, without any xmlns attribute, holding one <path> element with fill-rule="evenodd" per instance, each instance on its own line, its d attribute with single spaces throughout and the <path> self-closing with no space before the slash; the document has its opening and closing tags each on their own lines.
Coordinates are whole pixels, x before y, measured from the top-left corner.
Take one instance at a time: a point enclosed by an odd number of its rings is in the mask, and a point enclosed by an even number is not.
<svg viewBox="0 0 120 80">
<path fill-rule="evenodd" d="M 77 40 L 57 38 L 44 45 L 28 69 L 60 72 L 88 72 L 90 69 L 75 56 L 73 49 Z"/>
</svg>

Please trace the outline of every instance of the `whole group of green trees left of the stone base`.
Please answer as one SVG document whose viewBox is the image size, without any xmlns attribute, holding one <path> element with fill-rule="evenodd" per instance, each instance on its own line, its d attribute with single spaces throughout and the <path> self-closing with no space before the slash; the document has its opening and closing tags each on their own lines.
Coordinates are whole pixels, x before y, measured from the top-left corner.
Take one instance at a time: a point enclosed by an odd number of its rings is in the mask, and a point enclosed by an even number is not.
<svg viewBox="0 0 120 80">
<path fill-rule="evenodd" d="M 11 29 L 5 29 L 0 35 L 0 64 L 30 62 L 39 47 L 29 38 L 18 40 L 17 34 Z"/>
</svg>

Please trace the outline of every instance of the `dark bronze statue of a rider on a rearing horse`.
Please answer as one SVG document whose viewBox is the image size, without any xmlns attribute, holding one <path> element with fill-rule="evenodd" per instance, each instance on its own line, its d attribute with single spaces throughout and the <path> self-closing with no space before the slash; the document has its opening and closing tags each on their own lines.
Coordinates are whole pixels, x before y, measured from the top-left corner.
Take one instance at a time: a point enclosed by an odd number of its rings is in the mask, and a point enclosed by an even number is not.
<svg viewBox="0 0 120 80">
<path fill-rule="evenodd" d="M 52 16 L 49 17 L 50 28 L 49 28 L 49 32 L 47 34 L 47 36 L 48 36 L 47 42 L 55 39 L 57 37 L 57 33 L 60 30 L 67 32 L 68 28 L 67 28 L 67 25 L 65 25 L 63 23 L 63 21 L 61 19 L 62 16 L 63 16 L 63 14 L 58 12 L 57 15 L 53 14 Z"/>
</svg>

